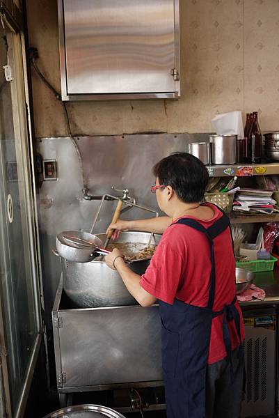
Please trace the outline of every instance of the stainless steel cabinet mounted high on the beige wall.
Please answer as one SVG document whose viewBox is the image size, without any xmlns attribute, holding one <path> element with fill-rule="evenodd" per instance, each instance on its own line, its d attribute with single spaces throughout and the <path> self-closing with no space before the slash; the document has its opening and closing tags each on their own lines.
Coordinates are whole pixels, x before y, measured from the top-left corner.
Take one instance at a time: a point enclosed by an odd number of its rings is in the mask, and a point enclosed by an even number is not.
<svg viewBox="0 0 279 418">
<path fill-rule="evenodd" d="M 63 100 L 177 98 L 179 0 L 58 0 Z"/>
</svg>

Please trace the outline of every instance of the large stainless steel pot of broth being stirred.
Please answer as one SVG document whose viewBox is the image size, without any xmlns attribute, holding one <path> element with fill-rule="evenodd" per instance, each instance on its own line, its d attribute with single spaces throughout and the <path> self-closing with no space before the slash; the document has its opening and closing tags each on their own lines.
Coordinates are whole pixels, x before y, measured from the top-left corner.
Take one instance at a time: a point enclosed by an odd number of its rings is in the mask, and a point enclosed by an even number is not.
<svg viewBox="0 0 279 418">
<path fill-rule="evenodd" d="M 96 234 L 104 242 L 106 234 Z M 151 245 L 157 245 L 161 235 L 154 234 Z M 122 232 L 115 242 L 148 243 L 150 233 Z M 116 270 L 111 270 L 104 261 L 74 263 L 61 259 L 63 270 L 63 288 L 67 297 L 76 307 L 117 307 L 136 304 Z M 129 268 L 137 274 L 143 274 L 149 260 L 130 263 Z"/>
</svg>

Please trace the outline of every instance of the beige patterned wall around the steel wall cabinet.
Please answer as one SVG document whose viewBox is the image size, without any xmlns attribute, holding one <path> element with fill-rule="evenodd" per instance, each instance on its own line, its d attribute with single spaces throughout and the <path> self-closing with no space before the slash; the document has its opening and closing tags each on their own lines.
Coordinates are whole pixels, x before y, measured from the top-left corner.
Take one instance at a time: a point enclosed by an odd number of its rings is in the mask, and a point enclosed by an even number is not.
<svg viewBox="0 0 279 418">
<path fill-rule="evenodd" d="M 28 0 L 30 44 L 60 88 L 56 0 Z M 279 130 L 279 0 L 180 0 L 182 97 L 70 102 L 74 134 L 211 132 L 215 114 L 258 110 Z M 33 74 L 37 137 L 66 134 L 61 104 Z"/>
</svg>

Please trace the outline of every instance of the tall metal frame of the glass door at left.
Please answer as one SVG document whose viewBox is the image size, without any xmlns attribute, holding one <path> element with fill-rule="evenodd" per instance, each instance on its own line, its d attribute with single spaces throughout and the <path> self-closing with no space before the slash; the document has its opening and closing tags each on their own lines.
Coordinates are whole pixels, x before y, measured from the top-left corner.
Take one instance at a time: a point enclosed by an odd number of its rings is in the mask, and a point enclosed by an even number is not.
<svg viewBox="0 0 279 418">
<path fill-rule="evenodd" d="M 6 19 L 6 15 L 0 10 L 1 20 L 9 31 L 9 38 L 12 40 L 13 56 L 16 61 L 14 70 L 13 88 L 11 88 L 13 102 L 13 118 L 15 137 L 20 138 L 16 141 L 15 148 L 17 155 L 20 155 L 22 162 L 22 179 L 24 180 L 24 202 L 26 203 L 26 227 L 29 237 L 29 246 L 31 253 L 31 281 L 35 297 L 35 324 L 38 334 L 35 337 L 33 352 L 26 369 L 24 381 L 22 383 L 22 393 L 19 398 L 16 410 L 13 411 L 10 399 L 9 377 L 8 377 L 8 359 L 5 341 L 5 327 L 3 324 L 3 307 L 0 303 L 0 400 L 1 397 L 5 401 L 4 417 L 21 418 L 24 415 L 26 401 L 29 396 L 29 390 L 33 379 L 35 365 L 38 359 L 38 353 L 42 344 L 42 314 L 44 309 L 44 300 L 42 293 L 42 274 L 39 250 L 39 230 L 38 230 L 38 214 L 35 193 L 35 169 L 33 147 L 31 146 L 31 117 L 29 105 L 29 88 L 27 82 L 26 71 L 26 54 L 24 33 L 20 32 L 17 27 L 13 27 L 10 21 Z M 28 129 L 29 128 L 29 129 Z"/>
</svg>

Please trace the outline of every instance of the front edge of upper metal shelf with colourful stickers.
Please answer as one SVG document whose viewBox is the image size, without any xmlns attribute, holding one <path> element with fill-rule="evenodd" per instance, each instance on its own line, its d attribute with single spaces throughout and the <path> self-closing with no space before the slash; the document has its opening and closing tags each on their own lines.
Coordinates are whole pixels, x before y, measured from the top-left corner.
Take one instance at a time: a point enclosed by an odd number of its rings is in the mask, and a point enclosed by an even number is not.
<svg viewBox="0 0 279 418">
<path fill-rule="evenodd" d="M 263 174 L 279 174 L 279 162 L 262 162 L 262 164 L 230 164 L 208 165 L 209 177 L 250 177 L 262 176 Z"/>
</svg>

